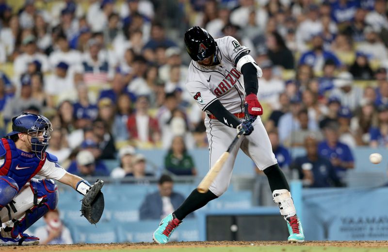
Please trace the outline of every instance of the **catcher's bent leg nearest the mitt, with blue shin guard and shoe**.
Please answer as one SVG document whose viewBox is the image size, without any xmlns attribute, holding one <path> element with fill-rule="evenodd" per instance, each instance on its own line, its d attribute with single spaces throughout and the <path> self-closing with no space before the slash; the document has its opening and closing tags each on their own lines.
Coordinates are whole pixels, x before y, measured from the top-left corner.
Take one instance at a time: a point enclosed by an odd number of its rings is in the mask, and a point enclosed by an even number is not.
<svg viewBox="0 0 388 252">
<path fill-rule="evenodd" d="M 7 206 L 7 226 L 0 232 L 2 245 L 34 245 L 39 238 L 24 234 L 33 223 L 58 204 L 58 188 L 51 179 L 32 178 L 30 188 L 24 188 Z M 27 210 L 26 210 L 27 209 Z M 3 210 L 4 211 L 4 210 Z M 4 213 L 3 215 L 4 216 Z M 6 221 L 6 220 L 3 220 Z"/>
</svg>

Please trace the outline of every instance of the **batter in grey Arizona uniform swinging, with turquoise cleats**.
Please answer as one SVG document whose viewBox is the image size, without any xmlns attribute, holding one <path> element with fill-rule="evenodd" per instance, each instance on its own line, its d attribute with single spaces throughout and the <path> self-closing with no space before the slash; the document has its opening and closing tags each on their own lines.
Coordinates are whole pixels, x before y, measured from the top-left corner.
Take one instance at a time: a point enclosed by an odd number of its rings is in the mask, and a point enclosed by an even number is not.
<svg viewBox="0 0 388 252">
<path fill-rule="evenodd" d="M 190 213 L 220 197 L 229 186 L 236 155 L 241 148 L 268 177 L 274 202 L 287 221 L 289 242 L 304 242 L 302 225 L 296 216 L 288 182 L 272 153 L 271 143 L 261 122 L 263 110 L 258 101 L 258 78 L 262 71 L 248 54 L 249 49 L 230 36 L 213 39 L 194 26 L 184 35 L 186 50 L 193 59 L 186 87 L 206 111 L 206 132 L 210 146 L 210 167 L 226 151 L 240 131 L 243 136 L 211 184 L 207 193 L 196 189 L 179 208 L 162 219 L 154 232 L 157 243 L 168 242 L 172 232 Z M 237 132 L 236 132 L 237 129 Z"/>
</svg>

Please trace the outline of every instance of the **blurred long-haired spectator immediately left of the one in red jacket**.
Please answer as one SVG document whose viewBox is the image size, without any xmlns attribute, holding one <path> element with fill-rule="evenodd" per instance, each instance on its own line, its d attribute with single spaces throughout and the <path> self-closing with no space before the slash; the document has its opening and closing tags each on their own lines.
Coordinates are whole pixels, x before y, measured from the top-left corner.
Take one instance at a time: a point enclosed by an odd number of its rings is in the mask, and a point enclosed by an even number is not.
<svg viewBox="0 0 388 252">
<path fill-rule="evenodd" d="M 112 126 L 112 134 L 117 142 L 129 140 L 126 127 L 128 118 L 132 113 L 132 101 L 127 94 L 120 94 L 117 99 L 116 115 Z"/>
</svg>

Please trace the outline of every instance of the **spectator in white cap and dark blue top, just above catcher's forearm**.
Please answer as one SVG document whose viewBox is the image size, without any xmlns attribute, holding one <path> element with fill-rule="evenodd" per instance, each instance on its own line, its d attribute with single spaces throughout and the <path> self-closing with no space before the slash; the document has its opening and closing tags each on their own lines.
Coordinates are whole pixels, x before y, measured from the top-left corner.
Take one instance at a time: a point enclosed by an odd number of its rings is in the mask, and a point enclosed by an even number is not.
<svg viewBox="0 0 388 252">
<path fill-rule="evenodd" d="M 88 150 L 81 150 L 67 171 L 79 176 L 109 176 L 105 165 L 96 166 L 96 159 Z"/>
</svg>

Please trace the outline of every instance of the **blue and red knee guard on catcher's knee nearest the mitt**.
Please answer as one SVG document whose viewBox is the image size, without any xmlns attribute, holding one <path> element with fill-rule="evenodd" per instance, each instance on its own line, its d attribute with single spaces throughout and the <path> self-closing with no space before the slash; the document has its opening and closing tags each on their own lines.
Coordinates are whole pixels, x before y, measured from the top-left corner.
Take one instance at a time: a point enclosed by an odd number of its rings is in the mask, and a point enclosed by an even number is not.
<svg viewBox="0 0 388 252">
<path fill-rule="evenodd" d="M 54 210 L 58 204 L 58 187 L 52 179 L 32 178 L 30 186 L 34 193 L 34 205 L 41 203 L 47 205 L 49 210 Z"/>
</svg>

